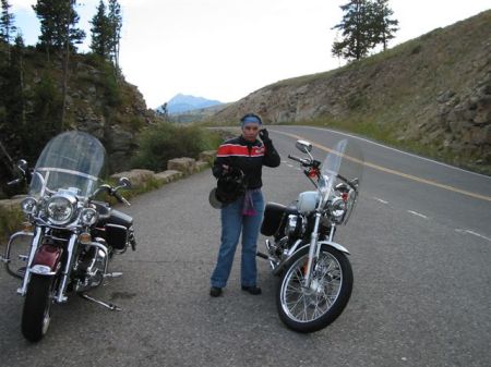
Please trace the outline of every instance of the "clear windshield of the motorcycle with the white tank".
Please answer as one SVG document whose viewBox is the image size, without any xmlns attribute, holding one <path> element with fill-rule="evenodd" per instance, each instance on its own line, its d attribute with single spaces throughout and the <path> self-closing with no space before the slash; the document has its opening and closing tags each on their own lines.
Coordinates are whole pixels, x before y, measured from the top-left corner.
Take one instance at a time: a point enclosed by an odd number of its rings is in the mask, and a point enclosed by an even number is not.
<svg viewBox="0 0 491 367">
<path fill-rule="evenodd" d="M 336 186 L 345 184 L 349 189 L 347 197 L 346 223 L 351 215 L 360 189 L 361 176 L 363 173 L 364 157 L 361 149 L 348 139 L 339 140 L 325 157 L 321 170 L 320 189 L 323 197 L 323 205 L 334 195 Z"/>
</svg>

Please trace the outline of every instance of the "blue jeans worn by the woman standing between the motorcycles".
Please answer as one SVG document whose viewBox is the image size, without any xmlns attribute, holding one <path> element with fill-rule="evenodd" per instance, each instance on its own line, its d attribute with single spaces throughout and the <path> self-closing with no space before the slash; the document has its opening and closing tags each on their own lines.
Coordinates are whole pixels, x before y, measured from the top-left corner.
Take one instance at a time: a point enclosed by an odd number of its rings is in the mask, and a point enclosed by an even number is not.
<svg viewBox="0 0 491 367">
<path fill-rule="evenodd" d="M 212 286 L 224 288 L 230 276 L 240 232 L 242 232 L 241 284 L 256 285 L 258 269 L 255 253 L 259 231 L 264 215 L 264 198 L 261 191 L 252 193 L 254 216 L 243 216 L 243 196 L 221 208 L 221 245 L 212 274 Z"/>
</svg>

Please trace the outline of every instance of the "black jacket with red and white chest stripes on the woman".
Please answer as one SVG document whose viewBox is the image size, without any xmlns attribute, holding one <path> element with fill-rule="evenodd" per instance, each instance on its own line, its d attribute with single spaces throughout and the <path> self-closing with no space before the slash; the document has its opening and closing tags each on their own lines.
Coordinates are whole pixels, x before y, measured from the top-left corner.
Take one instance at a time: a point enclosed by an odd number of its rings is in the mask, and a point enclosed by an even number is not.
<svg viewBox="0 0 491 367">
<path fill-rule="evenodd" d="M 241 135 L 218 147 L 213 164 L 213 174 L 215 178 L 221 175 L 221 164 L 236 167 L 244 173 L 248 188 L 260 188 L 263 185 L 261 180 L 263 166 L 278 167 L 279 163 L 279 155 L 271 140 L 264 144 L 259 139 L 248 142 Z"/>
</svg>

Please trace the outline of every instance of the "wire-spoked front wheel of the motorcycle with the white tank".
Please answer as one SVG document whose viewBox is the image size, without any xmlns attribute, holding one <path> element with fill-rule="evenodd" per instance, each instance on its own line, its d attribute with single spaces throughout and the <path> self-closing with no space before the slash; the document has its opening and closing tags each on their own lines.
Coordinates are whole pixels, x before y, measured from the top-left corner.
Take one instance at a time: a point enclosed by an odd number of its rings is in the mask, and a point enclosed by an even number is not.
<svg viewBox="0 0 491 367">
<path fill-rule="evenodd" d="M 311 286 L 306 289 L 309 247 L 297 252 L 285 268 L 276 293 L 282 321 L 298 332 L 324 329 L 343 313 L 352 291 L 351 265 L 345 254 L 322 245 L 313 264 Z"/>
</svg>

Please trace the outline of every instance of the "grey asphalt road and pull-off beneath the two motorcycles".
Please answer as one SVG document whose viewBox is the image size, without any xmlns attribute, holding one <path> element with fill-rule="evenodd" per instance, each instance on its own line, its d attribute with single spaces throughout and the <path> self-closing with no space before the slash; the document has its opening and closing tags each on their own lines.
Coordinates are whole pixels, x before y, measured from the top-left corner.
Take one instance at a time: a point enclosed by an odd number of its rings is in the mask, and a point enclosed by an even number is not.
<svg viewBox="0 0 491 367">
<path fill-rule="evenodd" d="M 311 187 L 287 162 L 301 155 L 291 135 L 325 147 L 342 137 L 272 127 L 283 163 L 263 170 L 267 200 L 287 204 Z M 207 203 L 214 180 L 205 171 L 124 209 L 137 252 L 112 262 L 122 278 L 93 292 L 121 313 L 73 297 L 53 307 L 45 340 L 29 344 L 20 332 L 19 282 L 0 272 L 0 365 L 489 366 L 491 178 L 354 139 L 366 155 L 362 195 L 337 241 L 351 252 L 355 286 L 328 328 L 306 335 L 284 327 L 277 280 L 262 260 L 262 295 L 240 291 L 237 256 L 224 296 L 208 296 L 219 212 Z"/>
</svg>

